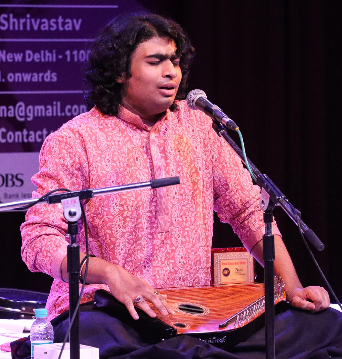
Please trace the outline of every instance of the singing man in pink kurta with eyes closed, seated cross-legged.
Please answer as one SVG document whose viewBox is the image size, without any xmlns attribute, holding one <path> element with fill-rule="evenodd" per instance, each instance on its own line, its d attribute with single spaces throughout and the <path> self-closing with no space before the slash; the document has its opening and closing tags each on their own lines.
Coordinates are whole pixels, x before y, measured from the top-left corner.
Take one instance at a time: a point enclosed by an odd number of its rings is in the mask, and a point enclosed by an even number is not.
<svg viewBox="0 0 342 359">
<path fill-rule="evenodd" d="M 86 281 L 91 284 L 82 303 L 93 300 L 97 289 L 107 289 L 135 320 L 135 304 L 150 317 L 156 316 L 151 304 L 172 316 L 167 298 L 155 288 L 210 284 L 213 210 L 263 262 L 260 188 L 216 135 L 212 120 L 182 100 L 193 55 L 188 37 L 172 20 L 154 14 L 115 18 L 93 43 L 85 71 L 89 112 L 67 122 L 42 146 L 39 172 L 32 179 L 34 197 L 62 187 L 74 191 L 180 177 L 177 186 L 98 196 L 84 203 L 90 253 L 96 257 L 89 258 Z M 29 269 L 55 278 L 47 303 L 54 318 L 69 305 L 67 223 L 61 205 L 33 207 L 21 229 L 22 256 Z M 327 309 L 328 293 L 319 286 L 301 286 L 275 222 L 272 232 L 275 272 L 286 283 L 291 306 L 298 308 L 276 318 L 278 357 L 320 358 L 314 355 L 342 348 L 342 320 Z M 82 260 L 81 226 L 78 241 Z M 83 276 L 84 261 L 81 280 Z M 55 323 L 55 341 L 62 341 L 68 323 L 58 318 Z M 314 323 L 323 333 L 309 328 Z M 150 346 L 91 304 L 81 309 L 80 342 L 99 347 L 103 358 L 264 357 L 262 332 L 229 352 L 187 336 Z"/>
</svg>

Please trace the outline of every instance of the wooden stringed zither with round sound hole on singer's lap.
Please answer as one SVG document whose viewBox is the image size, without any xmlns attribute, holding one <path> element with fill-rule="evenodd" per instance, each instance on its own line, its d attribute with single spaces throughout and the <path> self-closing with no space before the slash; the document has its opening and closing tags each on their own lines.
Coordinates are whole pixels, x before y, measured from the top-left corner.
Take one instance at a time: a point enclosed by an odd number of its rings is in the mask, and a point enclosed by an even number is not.
<svg viewBox="0 0 342 359">
<path fill-rule="evenodd" d="M 104 290 L 96 292 L 95 307 L 102 307 L 100 310 L 131 325 L 149 342 L 186 334 L 216 346 L 235 345 L 263 325 L 263 283 L 158 290 L 168 295 L 167 301 L 174 315 L 163 316 L 150 304 L 157 317 L 151 318 L 136 307 L 140 319 L 134 321 L 127 309 L 123 310 L 123 304 Z M 275 304 L 285 301 L 284 284 L 278 282 L 275 284 Z"/>
</svg>

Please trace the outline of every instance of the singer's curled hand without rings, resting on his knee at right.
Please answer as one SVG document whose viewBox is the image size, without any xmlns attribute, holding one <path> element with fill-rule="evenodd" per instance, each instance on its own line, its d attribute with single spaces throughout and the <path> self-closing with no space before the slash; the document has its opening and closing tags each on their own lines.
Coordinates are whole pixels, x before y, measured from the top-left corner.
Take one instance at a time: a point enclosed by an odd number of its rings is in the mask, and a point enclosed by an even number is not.
<svg viewBox="0 0 342 359">
<path fill-rule="evenodd" d="M 292 307 L 316 313 L 329 308 L 330 299 L 328 292 L 318 285 L 306 288 L 296 288 L 287 294 L 287 300 Z"/>
</svg>

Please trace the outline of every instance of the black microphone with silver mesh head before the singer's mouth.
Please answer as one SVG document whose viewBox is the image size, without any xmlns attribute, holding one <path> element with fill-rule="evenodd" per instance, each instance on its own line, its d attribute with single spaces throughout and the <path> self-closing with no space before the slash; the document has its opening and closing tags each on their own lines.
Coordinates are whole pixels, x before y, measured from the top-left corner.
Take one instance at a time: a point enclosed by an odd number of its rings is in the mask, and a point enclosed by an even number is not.
<svg viewBox="0 0 342 359">
<path fill-rule="evenodd" d="M 202 90 L 192 90 L 187 95 L 187 104 L 192 110 L 203 111 L 213 120 L 222 123 L 230 130 L 236 131 L 239 129 L 238 125 L 231 120 L 220 107 L 214 105 L 207 99 L 207 95 Z"/>
</svg>

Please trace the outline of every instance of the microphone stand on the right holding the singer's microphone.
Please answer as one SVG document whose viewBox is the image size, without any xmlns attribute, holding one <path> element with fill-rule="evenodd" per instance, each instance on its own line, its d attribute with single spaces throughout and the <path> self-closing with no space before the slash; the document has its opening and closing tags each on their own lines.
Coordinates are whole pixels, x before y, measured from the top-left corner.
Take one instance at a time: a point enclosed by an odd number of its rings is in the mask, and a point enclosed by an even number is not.
<svg viewBox="0 0 342 359">
<path fill-rule="evenodd" d="M 243 152 L 231 139 L 227 129 L 220 122 L 213 120 L 212 127 L 218 136 L 222 136 L 244 162 Z M 250 168 L 257 178 L 257 185 L 261 187 L 260 208 L 264 211 L 265 234 L 263 235 L 263 259 L 264 259 L 264 281 L 265 281 L 265 342 L 266 359 L 275 358 L 275 332 L 274 332 L 274 260 L 275 247 L 272 234 L 272 211 L 275 206 L 280 206 L 285 213 L 297 223 L 297 215 L 300 212 L 292 206 L 289 200 L 282 194 L 279 188 L 271 181 L 267 174 L 262 174 L 258 168 L 247 158 Z M 318 250 L 324 249 L 324 244 L 316 234 L 299 218 L 300 230 L 306 239 Z"/>
</svg>

